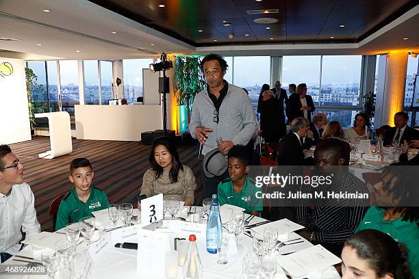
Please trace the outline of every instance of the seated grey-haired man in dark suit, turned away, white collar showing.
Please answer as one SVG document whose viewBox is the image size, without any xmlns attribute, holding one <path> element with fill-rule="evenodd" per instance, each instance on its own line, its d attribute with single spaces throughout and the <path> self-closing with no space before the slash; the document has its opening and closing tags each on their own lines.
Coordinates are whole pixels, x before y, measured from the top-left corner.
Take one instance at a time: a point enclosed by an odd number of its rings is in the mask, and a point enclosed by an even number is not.
<svg viewBox="0 0 419 279">
<path fill-rule="evenodd" d="M 291 122 L 291 131 L 279 141 L 278 165 L 305 165 L 305 156 L 301 139 L 307 134 L 309 126 L 304 118 L 295 118 Z"/>
</svg>

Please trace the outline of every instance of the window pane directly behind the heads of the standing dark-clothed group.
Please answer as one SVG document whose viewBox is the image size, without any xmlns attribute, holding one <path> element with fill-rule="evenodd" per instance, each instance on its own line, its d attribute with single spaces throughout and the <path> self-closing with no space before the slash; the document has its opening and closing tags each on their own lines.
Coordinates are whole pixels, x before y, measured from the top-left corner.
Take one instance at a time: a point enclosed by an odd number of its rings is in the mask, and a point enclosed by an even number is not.
<svg viewBox="0 0 419 279">
<path fill-rule="evenodd" d="M 320 87 L 320 55 L 284 56 L 282 59 L 282 88 L 294 83 L 307 84 L 307 94 L 312 96 L 314 106 L 318 107 Z M 288 92 L 289 96 L 290 92 Z"/>
</svg>

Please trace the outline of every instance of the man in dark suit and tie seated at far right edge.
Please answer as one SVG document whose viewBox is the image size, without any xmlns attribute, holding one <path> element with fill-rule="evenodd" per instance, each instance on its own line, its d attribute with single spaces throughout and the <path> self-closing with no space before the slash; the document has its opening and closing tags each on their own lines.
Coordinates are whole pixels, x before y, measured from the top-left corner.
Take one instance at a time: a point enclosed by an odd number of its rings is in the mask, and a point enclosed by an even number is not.
<svg viewBox="0 0 419 279">
<path fill-rule="evenodd" d="M 410 141 L 419 139 L 419 131 L 407 125 L 409 116 L 405 111 L 398 111 L 394 114 L 394 127 L 390 128 L 383 139 L 384 146 L 390 146 L 392 142 L 398 142 L 399 146 L 403 146 L 406 140 Z"/>
</svg>

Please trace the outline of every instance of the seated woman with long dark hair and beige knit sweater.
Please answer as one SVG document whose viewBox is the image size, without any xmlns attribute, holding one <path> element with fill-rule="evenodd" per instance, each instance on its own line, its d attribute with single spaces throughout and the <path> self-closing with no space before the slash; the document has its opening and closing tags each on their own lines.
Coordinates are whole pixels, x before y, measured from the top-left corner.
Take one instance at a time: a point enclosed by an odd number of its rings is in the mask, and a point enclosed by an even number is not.
<svg viewBox="0 0 419 279">
<path fill-rule="evenodd" d="M 195 176 L 188 165 L 179 160 L 175 144 L 168 137 L 159 137 L 151 147 L 151 169 L 142 176 L 141 195 L 163 194 L 165 200 L 181 200 L 194 204 Z"/>
</svg>

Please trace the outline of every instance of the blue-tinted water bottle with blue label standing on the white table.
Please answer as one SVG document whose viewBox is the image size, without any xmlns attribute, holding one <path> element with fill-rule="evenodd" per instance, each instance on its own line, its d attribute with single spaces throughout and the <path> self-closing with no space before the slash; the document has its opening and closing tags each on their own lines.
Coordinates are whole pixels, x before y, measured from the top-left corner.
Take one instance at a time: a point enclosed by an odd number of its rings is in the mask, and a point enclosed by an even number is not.
<svg viewBox="0 0 419 279">
<path fill-rule="evenodd" d="M 207 220 L 207 251 L 216 254 L 220 239 L 223 239 L 220 204 L 218 204 L 217 194 L 214 194 L 212 195 L 210 215 Z"/>
</svg>

